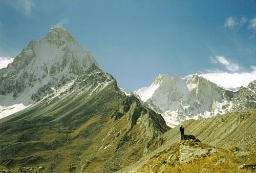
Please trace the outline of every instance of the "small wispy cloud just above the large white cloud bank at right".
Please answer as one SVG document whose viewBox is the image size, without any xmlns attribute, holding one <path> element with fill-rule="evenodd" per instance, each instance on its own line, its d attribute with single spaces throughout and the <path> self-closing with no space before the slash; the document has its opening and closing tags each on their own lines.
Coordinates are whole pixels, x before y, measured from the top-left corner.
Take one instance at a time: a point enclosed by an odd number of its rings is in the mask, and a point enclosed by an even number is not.
<svg viewBox="0 0 256 173">
<path fill-rule="evenodd" d="M 222 64 L 229 72 L 238 72 L 241 69 L 237 63 L 232 63 L 228 61 L 224 56 L 210 57 L 210 61 L 212 63 Z"/>
</svg>

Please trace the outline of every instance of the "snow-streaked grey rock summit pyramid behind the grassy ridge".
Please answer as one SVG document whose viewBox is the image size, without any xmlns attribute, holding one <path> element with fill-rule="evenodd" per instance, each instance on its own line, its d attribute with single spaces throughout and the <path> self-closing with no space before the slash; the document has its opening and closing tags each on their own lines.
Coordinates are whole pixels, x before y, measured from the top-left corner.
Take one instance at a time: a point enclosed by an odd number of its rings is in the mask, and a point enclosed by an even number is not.
<svg viewBox="0 0 256 173">
<path fill-rule="evenodd" d="M 56 25 L 45 38 L 32 39 L 7 68 L 0 69 L 0 107 L 38 101 L 51 88 L 76 79 L 93 63 L 97 64 L 92 55 Z"/>
</svg>

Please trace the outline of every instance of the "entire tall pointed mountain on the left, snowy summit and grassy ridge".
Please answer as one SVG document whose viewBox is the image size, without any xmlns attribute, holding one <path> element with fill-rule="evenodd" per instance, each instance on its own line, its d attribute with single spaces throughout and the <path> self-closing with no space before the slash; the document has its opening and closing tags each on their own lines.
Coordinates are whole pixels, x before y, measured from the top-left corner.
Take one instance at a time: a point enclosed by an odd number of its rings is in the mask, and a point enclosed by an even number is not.
<svg viewBox="0 0 256 173">
<path fill-rule="evenodd" d="M 0 73 L 1 104 L 25 95 L 34 103 L 0 120 L 0 165 L 13 171 L 117 171 L 161 145 L 169 129 L 61 26 L 32 40 Z"/>
</svg>

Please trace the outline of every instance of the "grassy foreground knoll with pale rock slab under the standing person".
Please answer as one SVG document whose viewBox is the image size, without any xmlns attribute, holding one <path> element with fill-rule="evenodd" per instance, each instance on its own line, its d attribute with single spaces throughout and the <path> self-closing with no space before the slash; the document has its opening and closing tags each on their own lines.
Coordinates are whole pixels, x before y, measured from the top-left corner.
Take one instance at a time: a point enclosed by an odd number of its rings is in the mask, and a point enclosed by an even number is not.
<svg viewBox="0 0 256 173">
<path fill-rule="evenodd" d="M 239 156 L 233 150 L 211 145 L 182 141 L 149 159 L 136 172 L 251 172 L 254 168 L 240 169 L 243 164 L 255 164 L 256 153 Z M 185 159 L 185 160 L 184 160 Z M 255 169 L 254 169 L 255 170 Z"/>
</svg>

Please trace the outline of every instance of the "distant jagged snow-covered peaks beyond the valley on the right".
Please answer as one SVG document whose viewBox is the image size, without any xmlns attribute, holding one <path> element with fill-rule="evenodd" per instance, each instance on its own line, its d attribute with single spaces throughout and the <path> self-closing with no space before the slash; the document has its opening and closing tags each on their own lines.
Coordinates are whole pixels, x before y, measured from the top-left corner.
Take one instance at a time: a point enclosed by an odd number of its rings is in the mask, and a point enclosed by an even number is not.
<svg viewBox="0 0 256 173">
<path fill-rule="evenodd" d="M 148 88 L 134 92 L 146 105 L 162 114 L 169 126 L 186 119 L 208 118 L 231 110 L 232 91 L 224 90 L 203 77 L 159 75 Z"/>
</svg>

